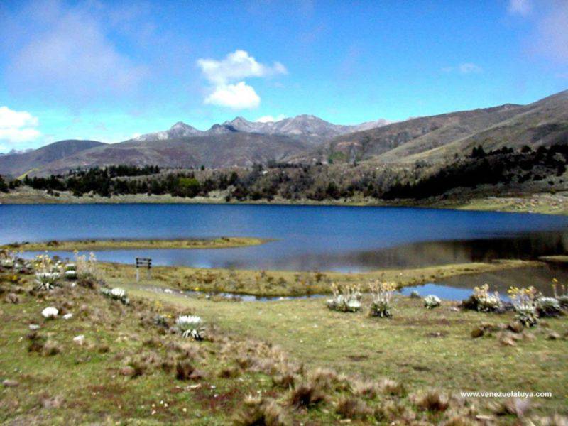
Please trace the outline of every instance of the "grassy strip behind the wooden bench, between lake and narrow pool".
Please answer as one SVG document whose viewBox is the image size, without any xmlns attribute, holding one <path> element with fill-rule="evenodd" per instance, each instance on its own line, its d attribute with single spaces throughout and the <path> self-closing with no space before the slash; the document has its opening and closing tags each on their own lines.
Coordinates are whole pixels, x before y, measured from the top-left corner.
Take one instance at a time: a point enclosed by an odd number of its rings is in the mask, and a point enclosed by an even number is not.
<svg viewBox="0 0 568 426">
<path fill-rule="evenodd" d="M 533 261 L 496 261 L 493 263 L 461 263 L 415 269 L 384 269 L 366 273 L 248 271 L 231 269 L 157 266 L 152 269 L 147 285 L 163 285 L 180 290 L 230 292 L 259 296 L 293 296 L 330 292 L 331 283 L 361 284 L 371 280 L 393 281 L 399 287 L 432 283 L 452 276 L 504 271 L 511 268 L 537 266 Z M 102 263 L 105 275 L 114 283 L 128 284 L 136 279 L 136 269 L 122 263 Z"/>
</svg>

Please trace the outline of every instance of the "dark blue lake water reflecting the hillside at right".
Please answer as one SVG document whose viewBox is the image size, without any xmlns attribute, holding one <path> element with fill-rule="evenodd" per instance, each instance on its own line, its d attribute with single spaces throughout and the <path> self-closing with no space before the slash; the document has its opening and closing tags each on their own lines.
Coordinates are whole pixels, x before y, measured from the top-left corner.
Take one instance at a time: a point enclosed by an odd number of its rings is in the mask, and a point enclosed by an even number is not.
<svg viewBox="0 0 568 426">
<path fill-rule="evenodd" d="M 368 271 L 566 253 L 568 217 L 398 207 L 229 204 L 0 206 L 0 243 L 53 239 L 275 239 L 236 249 L 100 251 L 102 261 Z M 58 253 L 70 256 L 70 253 Z"/>
</svg>

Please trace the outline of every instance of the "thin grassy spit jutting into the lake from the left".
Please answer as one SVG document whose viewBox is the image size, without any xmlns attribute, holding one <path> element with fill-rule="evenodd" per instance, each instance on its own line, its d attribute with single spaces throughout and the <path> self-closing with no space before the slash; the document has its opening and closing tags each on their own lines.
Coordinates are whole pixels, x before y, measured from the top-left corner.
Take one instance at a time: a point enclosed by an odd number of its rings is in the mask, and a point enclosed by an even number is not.
<svg viewBox="0 0 568 426">
<path fill-rule="evenodd" d="M 13 243 L 0 246 L 0 249 L 18 251 L 100 251 L 100 250 L 133 250 L 133 249 L 229 249 L 233 247 L 258 246 L 269 240 L 238 236 L 217 239 L 175 239 L 175 240 L 75 240 L 46 241 L 39 243 Z"/>
</svg>

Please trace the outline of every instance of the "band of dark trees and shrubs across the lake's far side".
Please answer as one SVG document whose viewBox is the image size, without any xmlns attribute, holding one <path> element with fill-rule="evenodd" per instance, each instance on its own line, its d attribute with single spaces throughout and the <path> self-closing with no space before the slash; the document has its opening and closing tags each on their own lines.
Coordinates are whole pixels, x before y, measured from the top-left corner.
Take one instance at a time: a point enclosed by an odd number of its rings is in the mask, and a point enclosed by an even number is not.
<svg viewBox="0 0 568 426">
<path fill-rule="evenodd" d="M 71 192 L 75 196 L 173 195 L 209 196 L 218 191 L 230 200 L 339 200 L 373 197 L 393 200 L 422 199 L 456 188 L 501 185 L 520 188 L 532 182 L 553 185 L 553 178 L 566 171 L 568 146 L 528 146 L 518 151 L 501 148 L 484 151 L 476 146 L 464 158 L 454 158 L 444 167 L 416 163 L 411 168 L 378 168 L 376 165 L 292 165 L 270 163 L 231 170 L 160 170 L 158 166 L 116 165 L 73 170 L 64 175 L 24 178 L 7 184 L 0 178 L 0 191 L 27 185 L 50 194 Z M 556 179 L 558 181 L 558 179 Z M 542 187 L 542 185 L 541 185 Z"/>
</svg>

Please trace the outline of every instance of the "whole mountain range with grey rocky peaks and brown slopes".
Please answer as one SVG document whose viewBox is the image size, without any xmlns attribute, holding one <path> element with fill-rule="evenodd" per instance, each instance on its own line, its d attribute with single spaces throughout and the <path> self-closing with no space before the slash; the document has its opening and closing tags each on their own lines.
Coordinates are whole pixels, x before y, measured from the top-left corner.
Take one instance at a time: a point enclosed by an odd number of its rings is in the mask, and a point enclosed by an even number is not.
<svg viewBox="0 0 568 426">
<path fill-rule="evenodd" d="M 121 143 L 59 141 L 25 153 L 2 155 L 0 174 L 43 175 L 119 163 L 180 168 L 249 166 L 268 160 L 451 163 L 479 145 L 490 151 L 555 143 L 568 144 L 568 91 L 527 105 L 504 104 L 357 126 L 332 124 L 310 115 L 268 123 L 237 117 L 207 131 L 178 122 L 166 131 Z"/>
</svg>

